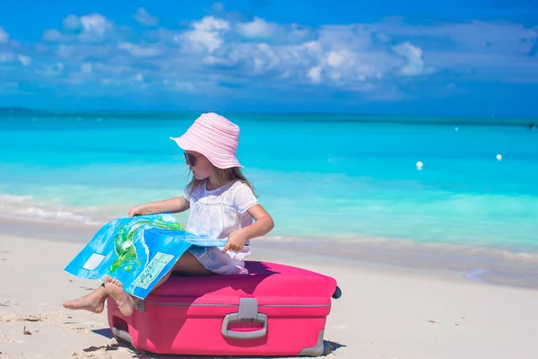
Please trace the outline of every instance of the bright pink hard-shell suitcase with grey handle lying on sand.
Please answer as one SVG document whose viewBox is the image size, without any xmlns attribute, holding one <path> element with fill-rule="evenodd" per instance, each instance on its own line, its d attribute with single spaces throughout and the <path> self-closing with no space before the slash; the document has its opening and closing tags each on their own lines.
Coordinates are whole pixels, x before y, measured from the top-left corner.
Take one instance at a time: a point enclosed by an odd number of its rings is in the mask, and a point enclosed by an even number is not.
<svg viewBox="0 0 538 359">
<path fill-rule="evenodd" d="M 181 355 L 324 354 L 334 278 L 247 261 L 248 275 L 171 276 L 124 317 L 108 298 L 108 325 L 135 348 Z"/>
</svg>

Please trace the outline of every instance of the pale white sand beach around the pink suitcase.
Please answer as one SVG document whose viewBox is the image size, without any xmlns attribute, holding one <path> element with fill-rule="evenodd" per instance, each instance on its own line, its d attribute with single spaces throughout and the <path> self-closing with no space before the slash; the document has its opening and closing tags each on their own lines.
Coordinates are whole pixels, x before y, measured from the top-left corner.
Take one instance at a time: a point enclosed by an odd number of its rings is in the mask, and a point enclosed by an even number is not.
<svg viewBox="0 0 538 359">
<path fill-rule="evenodd" d="M 91 229 L 0 224 L 0 358 L 169 357 L 118 344 L 104 313 L 62 307 L 63 301 L 97 285 L 63 271 L 91 238 Z M 66 241 L 74 233 L 79 234 Z M 253 245 L 256 249 L 256 241 Z M 337 279 L 343 296 L 333 301 L 327 320 L 325 340 L 333 349 L 327 357 L 504 359 L 538 355 L 534 337 L 538 332 L 538 291 L 348 259 L 294 252 L 282 256 L 282 250 L 265 247 L 254 250 L 252 259 L 306 267 Z"/>
</svg>

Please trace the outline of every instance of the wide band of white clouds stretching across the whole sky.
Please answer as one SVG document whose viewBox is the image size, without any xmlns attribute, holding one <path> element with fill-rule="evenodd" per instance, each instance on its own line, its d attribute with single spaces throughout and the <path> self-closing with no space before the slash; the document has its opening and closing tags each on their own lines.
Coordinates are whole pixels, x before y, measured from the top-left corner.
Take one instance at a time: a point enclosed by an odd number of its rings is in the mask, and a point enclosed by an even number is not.
<svg viewBox="0 0 538 359">
<path fill-rule="evenodd" d="M 237 87 L 252 83 L 279 89 L 321 84 L 336 91 L 371 92 L 369 98 L 382 98 L 381 92 L 394 97 L 409 83 L 396 76 L 420 83 L 438 72 L 451 83 L 457 81 L 451 74 L 464 76 L 474 69 L 480 71 L 473 79 L 538 81 L 538 64 L 528 56 L 538 29 L 518 24 L 414 26 L 390 20 L 311 28 L 260 17 L 243 22 L 223 9 L 218 13 L 190 22 L 187 30 L 128 29 L 98 13 L 69 15 L 61 30 L 43 33 L 44 41 L 60 43 L 37 44 L 28 60 L 39 74 L 56 76 L 55 83 L 102 83 L 117 89 L 142 79 L 148 88 L 189 93 L 239 92 Z M 134 18 L 140 21 L 146 14 L 140 8 Z M 145 22 L 152 24 L 151 19 Z M 17 54 L 28 52 L 13 44 L 2 46 L 0 58 L 18 58 L 24 66 L 21 58 L 26 57 Z M 57 61 L 65 67 L 50 65 Z"/>
</svg>

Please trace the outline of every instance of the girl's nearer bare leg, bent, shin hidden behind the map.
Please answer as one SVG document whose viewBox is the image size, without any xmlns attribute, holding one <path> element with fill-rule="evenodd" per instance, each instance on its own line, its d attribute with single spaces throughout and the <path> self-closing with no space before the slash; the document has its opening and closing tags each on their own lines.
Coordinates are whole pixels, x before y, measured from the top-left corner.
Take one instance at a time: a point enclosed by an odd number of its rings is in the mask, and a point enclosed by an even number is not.
<svg viewBox="0 0 538 359">
<path fill-rule="evenodd" d="M 172 274 L 172 272 L 178 272 L 182 276 L 211 276 L 214 275 L 212 271 L 206 269 L 202 263 L 198 261 L 190 252 L 185 252 L 179 257 L 176 265 L 170 270 L 162 279 L 153 287 L 155 290 L 162 285 Z M 116 279 L 105 276 L 105 291 L 116 302 L 117 308 L 125 316 L 133 314 L 134 307 L 136 306 L 137 299 L 129 295 L 123 290 L 123 285 Z"/>
</svg>

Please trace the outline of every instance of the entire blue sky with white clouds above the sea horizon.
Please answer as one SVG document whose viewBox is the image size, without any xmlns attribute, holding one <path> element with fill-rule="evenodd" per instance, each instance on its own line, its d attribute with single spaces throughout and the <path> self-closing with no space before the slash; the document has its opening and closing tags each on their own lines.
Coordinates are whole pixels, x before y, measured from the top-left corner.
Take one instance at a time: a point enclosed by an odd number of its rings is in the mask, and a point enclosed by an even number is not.
<svg viewBox="0 0 538 359">
<path fill-rule="evenodd" d="M 537 98 L 535 0 L 19 0 L 0 12 L 0 106 L 538 117 Z"/>
</svg>

